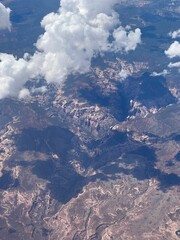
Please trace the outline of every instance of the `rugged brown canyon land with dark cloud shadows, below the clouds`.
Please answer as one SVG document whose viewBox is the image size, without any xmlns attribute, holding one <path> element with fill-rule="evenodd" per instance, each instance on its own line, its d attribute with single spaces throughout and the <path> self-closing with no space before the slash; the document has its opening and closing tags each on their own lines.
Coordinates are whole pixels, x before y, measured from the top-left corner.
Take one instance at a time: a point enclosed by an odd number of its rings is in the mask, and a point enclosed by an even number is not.
<svg viewBox="0 0 180 240">
<path fill-rule="evenodd" d="M 178 239 L 179 104 L 112 66 L 1 101 L 1 240 Z"/>
</svg>

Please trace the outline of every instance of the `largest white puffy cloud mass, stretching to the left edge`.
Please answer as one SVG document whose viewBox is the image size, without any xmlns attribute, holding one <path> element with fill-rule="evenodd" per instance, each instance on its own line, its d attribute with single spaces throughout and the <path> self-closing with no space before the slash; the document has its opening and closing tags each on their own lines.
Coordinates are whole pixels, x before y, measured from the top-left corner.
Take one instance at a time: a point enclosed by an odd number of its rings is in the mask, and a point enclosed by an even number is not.
<svg viewBox="0 0 180 240">
<path fill-rule="evenodd" d="M 40 75 L 48 83 L 62 84 L 69 74 L 88 72 L 98 54 L 135 50 L 141 31 L 121 26 L 113 10 L 116 3 L 118 0 L 61 0 L 58 12 L 43 18 L 45 32 L 38 38 L 33 56 L 2 56 L 0 98 L 17 95 L 27 79 Z"/>
</svg>

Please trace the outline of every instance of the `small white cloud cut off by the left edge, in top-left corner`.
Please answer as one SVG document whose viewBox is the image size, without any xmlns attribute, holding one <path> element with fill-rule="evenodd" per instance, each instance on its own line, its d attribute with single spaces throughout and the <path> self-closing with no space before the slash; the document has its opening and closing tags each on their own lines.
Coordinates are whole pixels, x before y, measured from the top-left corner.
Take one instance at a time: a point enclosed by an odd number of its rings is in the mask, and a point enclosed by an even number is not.
<svg viewBox="0 0 180 240">
<path fill-rule="evenodd" d="M 0 3 L 0 29 L 11 29 L 10 12 L 9 8 Z"/>
</svg>

